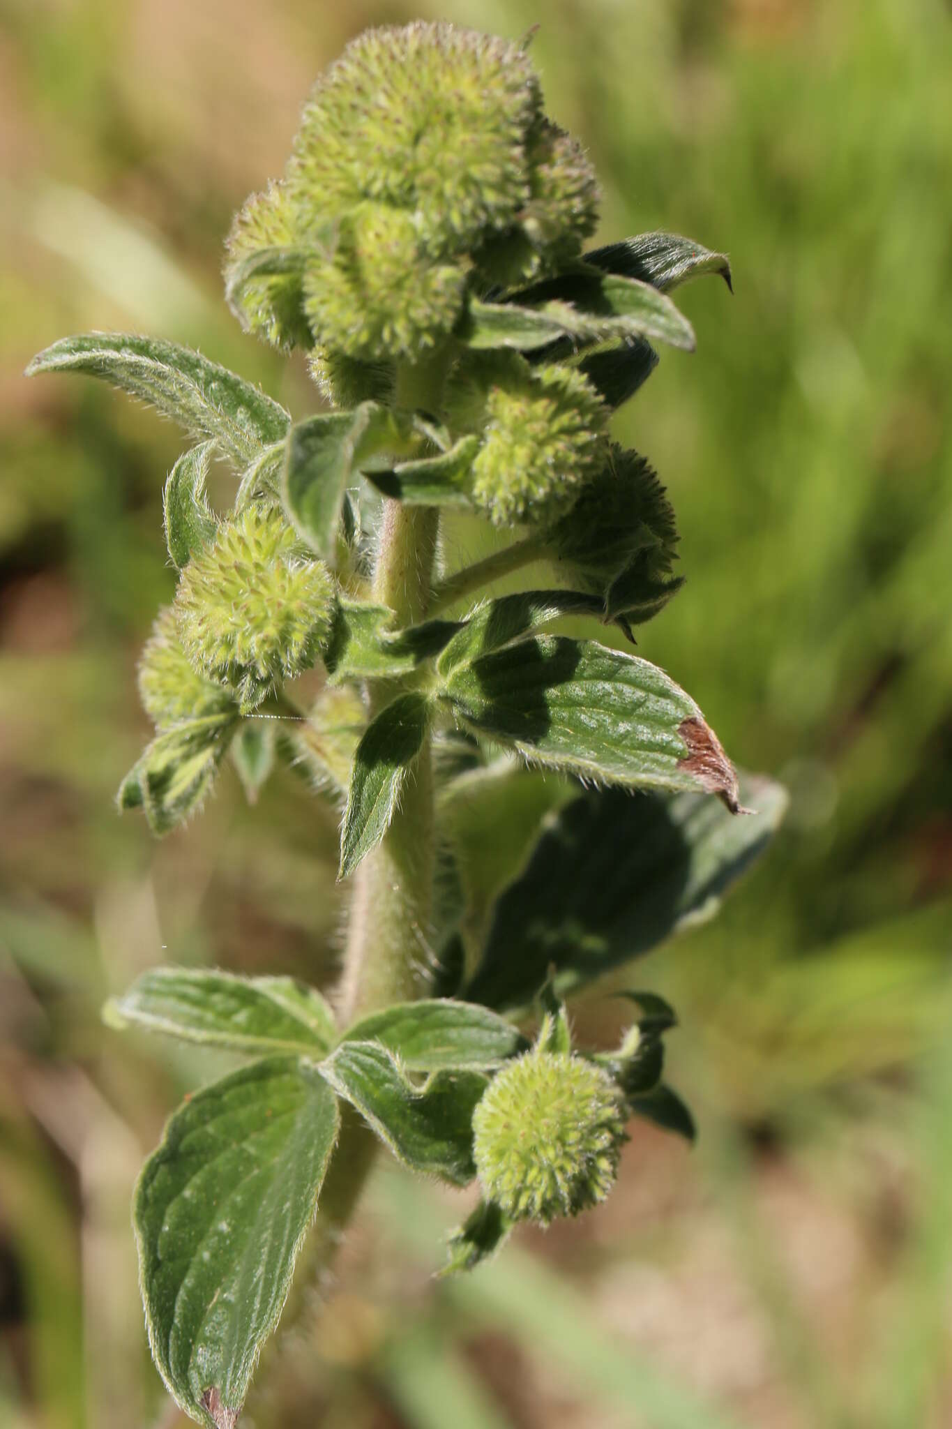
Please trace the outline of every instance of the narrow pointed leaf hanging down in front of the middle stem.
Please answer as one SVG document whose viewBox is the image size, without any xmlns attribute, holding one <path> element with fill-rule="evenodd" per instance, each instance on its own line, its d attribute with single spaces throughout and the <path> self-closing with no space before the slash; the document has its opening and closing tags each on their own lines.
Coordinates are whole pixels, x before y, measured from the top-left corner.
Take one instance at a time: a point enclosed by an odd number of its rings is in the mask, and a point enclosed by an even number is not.
<svg viewBox="0 0 952 1429">
<path fill-rule="evenodd" d="M 367 726 L 351 769 L 338 877 L 348 877 L 387 833 L 428 717 L 425 696 L 398 694 Z"/>
</svg>

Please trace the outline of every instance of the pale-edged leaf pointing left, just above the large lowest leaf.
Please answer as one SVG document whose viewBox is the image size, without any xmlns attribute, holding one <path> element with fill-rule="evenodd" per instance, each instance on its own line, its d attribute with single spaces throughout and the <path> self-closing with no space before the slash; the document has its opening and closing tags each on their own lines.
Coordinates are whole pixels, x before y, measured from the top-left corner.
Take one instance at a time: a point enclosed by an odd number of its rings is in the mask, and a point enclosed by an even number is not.
<svg viewBox="0 0 952 1429">
<path fill-rule="evenodd" d="M 314 987 L 293 977 L 238 977 L 191 967 L 153 967 L 103 1009 L 111 1027 L 144 1027 L 236 1052 L 323 1055 L 337 1039 L 334 1015 Z"/>
</svg>

